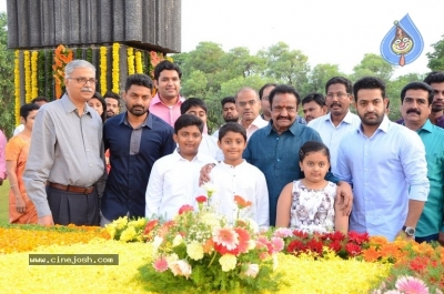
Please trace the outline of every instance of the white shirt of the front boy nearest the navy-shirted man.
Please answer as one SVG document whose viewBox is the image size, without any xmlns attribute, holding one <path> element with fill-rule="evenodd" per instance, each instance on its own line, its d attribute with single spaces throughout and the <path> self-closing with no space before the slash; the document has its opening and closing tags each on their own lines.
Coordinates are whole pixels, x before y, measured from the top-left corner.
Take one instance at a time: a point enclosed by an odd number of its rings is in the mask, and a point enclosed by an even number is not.
<svg viewBox="0 0 444 294">
<path fill-rule="evenodd" d="M 145 217 L 154 215 L 171 220 L 182 205 L 198 209 L 195 197 L 204 192 L 199 187 L 199 175 L 202 166 L 208 163 L 218 162 L 200 152 L 189 161 L 178 150 L 154 162 L 145 193 Z"/>
</svg>

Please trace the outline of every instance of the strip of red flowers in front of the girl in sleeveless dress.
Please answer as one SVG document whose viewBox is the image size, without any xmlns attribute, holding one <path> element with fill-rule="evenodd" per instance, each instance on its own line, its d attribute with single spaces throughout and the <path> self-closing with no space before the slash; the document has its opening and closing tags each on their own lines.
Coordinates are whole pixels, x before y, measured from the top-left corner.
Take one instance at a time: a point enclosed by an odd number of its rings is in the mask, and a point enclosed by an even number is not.
<svg viewBox="0 0 444 294">
<path fill-rule="evenodd" d="M 340 257 L 346 260 L 359 256 L 369 242 L 367 233 L 341 232 L 307 233 L 297 230 L 280 227 L 274 231 L 275 236 L 285 240 L 285 251 L 299 256 L 301 253 L 314 253 L 323 257 L 325 249 L 335 252 Z"/>
</svg>

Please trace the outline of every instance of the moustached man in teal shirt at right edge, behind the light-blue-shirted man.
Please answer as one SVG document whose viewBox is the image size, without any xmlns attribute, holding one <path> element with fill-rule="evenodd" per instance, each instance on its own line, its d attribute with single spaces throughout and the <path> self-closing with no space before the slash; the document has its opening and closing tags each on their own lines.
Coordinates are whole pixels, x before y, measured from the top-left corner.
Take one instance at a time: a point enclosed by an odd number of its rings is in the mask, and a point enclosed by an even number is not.
<svg viewBox="0 0 444 294">
<path fill-rule="evenodd" d="M 425 146 L 430 193 L 416 225 L 416 242 L 440 241 L 444 245 L 444 130 L 430 121 L 433 90 L 412 82 L 401 91 L 404 125 L 415 131 Z"/>
</svg>

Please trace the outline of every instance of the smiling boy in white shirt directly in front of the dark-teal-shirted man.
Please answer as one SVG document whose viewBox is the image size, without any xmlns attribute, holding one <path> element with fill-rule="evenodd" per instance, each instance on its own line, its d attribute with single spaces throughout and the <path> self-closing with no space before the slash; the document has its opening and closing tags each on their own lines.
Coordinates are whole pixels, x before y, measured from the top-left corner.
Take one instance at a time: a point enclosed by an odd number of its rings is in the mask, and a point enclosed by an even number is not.
<svg viewBox="0 0 444 294">
<path fill-rule="evenodd" d="M 238 215 L 234 195 L 251 201 L 246 209 L 248 216 L 259 226 L 270 225 L 269 192 L 264 174 L 254 165 L 242 159 L 246 146 L 245 129 L 236 122 L 228 122 L 219 130 L 219 148 L 224 160 L 215 165 L 210 173 L 210 183 L 215 186 L 211 203 L 216 212 L 226 216 L 233 223 Z M 242 214 L 241 214 L 242 216 Z"/>
</svg>

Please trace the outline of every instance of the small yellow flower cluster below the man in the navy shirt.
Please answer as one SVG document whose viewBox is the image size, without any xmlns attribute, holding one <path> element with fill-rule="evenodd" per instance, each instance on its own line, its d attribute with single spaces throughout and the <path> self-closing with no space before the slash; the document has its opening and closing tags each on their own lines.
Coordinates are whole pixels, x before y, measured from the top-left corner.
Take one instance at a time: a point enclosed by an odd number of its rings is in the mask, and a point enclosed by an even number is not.
<svg viewBox="0 0 444 294">
<path fill-rule="evenodd" d="M 113 240 L 123 242 L 142 242 L 147 240 L 143 233 L 147 219 L 139 217 L 137 220 L 129 220 L 125 215 L 110 224 L 107 224 L 105 231 Z"/>
</svg>

